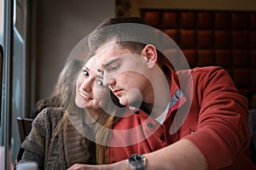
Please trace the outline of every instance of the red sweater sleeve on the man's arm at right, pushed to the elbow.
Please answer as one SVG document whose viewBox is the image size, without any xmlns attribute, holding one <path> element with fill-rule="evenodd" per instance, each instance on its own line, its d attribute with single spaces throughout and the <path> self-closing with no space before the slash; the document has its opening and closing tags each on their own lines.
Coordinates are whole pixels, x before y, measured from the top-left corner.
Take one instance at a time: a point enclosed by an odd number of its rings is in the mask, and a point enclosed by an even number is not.
<svg viewBox="0 0 256 170">
<path fill-rule="evenodd" d="M 247 149 L 247 99 L 238 94 L 229 74 L 220 67 L 195 71 L 193 81 L 199 100 L 197 132 L 185 137 L 205 156 L 208 169 L 227 167 Z M 195 99 L 196 98 L 196 99 Z"/>
</svg>

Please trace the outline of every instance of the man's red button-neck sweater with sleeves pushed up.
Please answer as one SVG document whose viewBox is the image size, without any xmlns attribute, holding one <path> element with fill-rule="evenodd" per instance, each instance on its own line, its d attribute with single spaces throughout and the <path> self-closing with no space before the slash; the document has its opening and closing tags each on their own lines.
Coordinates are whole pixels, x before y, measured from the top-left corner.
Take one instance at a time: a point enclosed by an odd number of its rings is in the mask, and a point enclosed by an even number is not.
<svg viewBox="0 0 256 170">
<path fill-rule="evenodd" d="M 108 163 L 189 139 L 205 156 L 207 169 L 256 169 L 249 158 L 247 99 L 224 69 L 172 71 L 170 104 L 163 124 L 143 111 L 126 111 L 109 137 Z"/>
</svg>

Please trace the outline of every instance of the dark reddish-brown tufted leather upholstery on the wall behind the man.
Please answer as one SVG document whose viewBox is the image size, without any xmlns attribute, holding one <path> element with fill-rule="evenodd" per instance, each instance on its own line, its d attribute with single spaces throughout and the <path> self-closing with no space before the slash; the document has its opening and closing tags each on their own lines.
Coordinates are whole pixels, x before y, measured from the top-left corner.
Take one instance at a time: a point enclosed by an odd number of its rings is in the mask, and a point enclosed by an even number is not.
<svg viewBox="0 0 256 170">
<path fill-rule="evenodd" d="M 256 92 L 256 12 L 142 8 L 141 16 L 177 42 L 190 68 L 222 66 L 239 93 Z"/>
</svg>

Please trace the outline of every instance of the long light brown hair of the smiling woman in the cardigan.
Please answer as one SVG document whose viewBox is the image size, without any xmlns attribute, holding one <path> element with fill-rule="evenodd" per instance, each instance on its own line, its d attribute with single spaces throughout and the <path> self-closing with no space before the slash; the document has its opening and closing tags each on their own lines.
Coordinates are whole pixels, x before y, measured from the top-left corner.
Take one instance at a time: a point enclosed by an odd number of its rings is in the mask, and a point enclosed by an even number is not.
<svg viewBox="0 0 256 170">
<path fill-rule="evenodd" d="M 76 81 L 79 74 L 76 74 L 73 77 L 73 80 L 65 80 L 61 82 L 61 102 L 65 106 L 65 112 L 61 117 L 61 121 L 58 122 L 55 132 L 53 133 L 52 141 L 56 138 L 57 134 L 61 132 L 63 129 L 64 133 L 67 133 L 67 122 L 69 119 L 69 114 L 84 114 L 84 111 L 88 113 L 86 109 L 80 109 L 75 104 L 75 94 L 76 94 Z M 109 90 L 109 89 L 108 89 Z M 110 90 L 109 90 L 110 92 Z M 111 93 L 111 92 L 110 92 Z M 113 99 L 114 104 L 118 104 L 119 100 L 111 96 Z M 107 145 L 108 145 L 108 134 L 110 133 L 111 129 L 113 128 L 113 124 L 117 122 L 117 116 L 121 114 L 121 110 L 113 105 L 113 103 L 108 102 L 106 107 L 108 107 L 108 114 L 106 111 L 102 110 L 102 114 L 99 116 L 97 122 L 99 127 L 96 129 L 95 133 L 95 141 L 96 141 L 96 164 L 105 164 L 108 161 L 107 156 Z M 83 112 L 82 112 L 83 111 Z M 89 113 L 88 113 L 89 114 Z M 85 138 L 85 137 L 84 137 Z M 87 139 L 86 142 L 91 142 L 90 139 Z M 53 142 L 52 142 L 53 143 Z M 49 150 L 53 149 L 53 144 L 50 144 Z"/>
</svg>

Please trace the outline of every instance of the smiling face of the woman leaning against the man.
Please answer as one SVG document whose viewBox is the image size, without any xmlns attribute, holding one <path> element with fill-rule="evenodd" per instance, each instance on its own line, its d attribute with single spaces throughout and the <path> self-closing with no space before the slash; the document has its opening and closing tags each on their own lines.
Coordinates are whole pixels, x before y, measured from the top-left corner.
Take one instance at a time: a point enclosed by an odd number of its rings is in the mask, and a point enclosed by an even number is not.
<svg viewBox="0 0 256 170">
<path fill-rule="evenodd" d="M 96 61 L 91 57 L 84 65 L 76 82 L 75 104 L 79 108 L 100 109 L 99 105 L 107 93 L 102 81 L 96 77 Z"/>
</svg>

